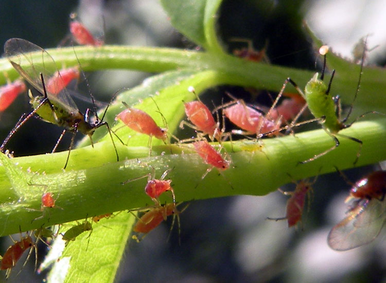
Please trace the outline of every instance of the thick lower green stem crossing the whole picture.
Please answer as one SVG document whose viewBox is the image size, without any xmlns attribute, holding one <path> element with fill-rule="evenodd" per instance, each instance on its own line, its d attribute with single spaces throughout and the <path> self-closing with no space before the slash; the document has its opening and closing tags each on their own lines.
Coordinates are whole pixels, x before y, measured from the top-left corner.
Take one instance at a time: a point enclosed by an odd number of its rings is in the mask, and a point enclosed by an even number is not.
<svg viewBox="0 0 386 283">
<path fill-rule="evenodd" d="M 342 130 L 342 134 L 352 135 L 363 141 L 361 156 L 356 166 L 386 159 L 386 148 L 379 147 L 386 143 L 384 125 L 386 119 L 378 119 L 357 122 L 351 128 Z M 173 181 L 179 202 L 236 194 L 261 196 L 290 182 L 287 173 L 294 179 L 302 179 L 319 172 L 335 171 L 334 166 L 342 170 L 353 167 L 359 146 L 352 140 L 339 139 L 341 146 L 338 149 L 305 165 L 299 165 L 299 162 L 334 144 L 323 130 L 264 139 L 262 147 L 251 140 L 234 141 L 233 146 L 230 142 L 225 143 L 225 148 L 232 158 L 232 168 L 224 171 L 223 175 L 219 175 L 214 169 L 203 180 L 201 176 L 209 166 L 203 164 L 198 154 L 194 153 L 191 147 L 189 149 L 188 145 L 154 147 L 154 154 L 160 154 L 154 157 L 148 156 L 146 148 L 128 148 L 127 152 L 132 152 L 132 155 L 127 153 L 128 160 L 106 164 L 106 157 L 103 156 L 113 156 L 113 148 L 111 143 L 104 142 L 98 144 L 104 150 L 89 147 L 74 150 L 71 157 L 73 162 L 84 163 L 86 160 L 93 164 L 92 168 L 83 167 L 85 164 L 81 164 L 79 169 L 45 175 L 27 173 L 25 168 L 30 166 L 32 172 L 54 171 L 52 166 L 56 165 L 48 159 L 64 162 L 66 152 L 11 160 L 1 155 L 3 167 L 6 169 L 5 173 L 0 172 L 1 180 L 8 178 L 9 183 L 3 181 L 1 184 L 0 220 L 3 229 L 0 235 L 17 233 L 19 225 L 22 231 L 27 231 L 42 225 L 49 226 L 86 216 L 149 205 L 151 201 L 143 192 L 146 180 L 121 185 L 121 182 L 149 173 L 149 165 L 156 169 L 156 177 L 164 170 L 173 168 L 168 177 Z M 173 154 L 170 154 L 170 150 Z M 47 163 L 42 163 L 42 158 L 46 158 Z M 12 165 L 14 163 L 18 165 Z M 19 169 L 20 166 L 24 169 Z M 63 209 L 51 208 L 49 216 L 47 214 L 45 218 L 33 221 L 41 216 L 42 212 L 31 211 L 26 207 L 40 209 L 41 194 L 47 190 L 58 196 L 57 205 Z M 164 196 L 161 200 L 170 201 L 170 197 Z"/>
</svg>

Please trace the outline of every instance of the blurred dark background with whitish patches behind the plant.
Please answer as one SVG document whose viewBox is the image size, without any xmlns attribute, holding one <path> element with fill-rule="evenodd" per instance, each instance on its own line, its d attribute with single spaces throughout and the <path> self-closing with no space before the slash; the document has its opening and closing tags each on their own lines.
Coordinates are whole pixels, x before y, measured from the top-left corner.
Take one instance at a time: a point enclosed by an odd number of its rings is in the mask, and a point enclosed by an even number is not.
<svg viewBox="0 0 386 283">
<path fill-rule="evenodd" d="M 302 29 L 303 20 L 323 42 L 349 60 L 353 59 L 351 52 L 359 39 L 371 34 L 369 48 L 379 46 L 368 54 L 366 63 L 384 66 L 385 10 L 384 0 L 224 0 L 218 26 L 223 46 L 230 53 L 247 47 L 233 38 L 250 39 L 257 50 L 267 46 L 272 64 L 310 70 L 315 69 L 315 51 Z M 56 47 L 68 35 L 68 16 L 74 11 L 95 33 L 104 33 L 106 44 L 197 48 L 172 28 L 157 0 L 3 0 L 0 45 L 19 37 L 44 48 Z M 116 90 L 133 87 L 147 76 L 114 70 L 87 74 L 87 79 L 97 99 L 109 101 Z M 204 101 L 219 103 L 224 90 L 248 102 L 256 99 L 241 88 L 219 86 L 209 90 Z M 81 105 L 81 111 L 83 107 L 87 105 Z M 0 135 L 5 137 L 20 115 L 29 111 L 27 96 L 17 98 L 0 114 Z M 31 119 L 9 147 L 17 156 L 50 152 L 61 131 Z M 68 139 L 63 141 L 61 149 L 65 150 L 68 144 Z M 379 167 L 357 168 L 345 174 L 354 182 L 375 169 Z M 283 189 L 293 188 L 294 184 L 289 184 Z M 288 198 L 278 191 L 265 197 L 192 202 L 181 215 L 181 245 L 176 229 L 167 241 L 170 222 L 149 233 L 141 243 L 130 241 L 130 253 L 121 262 L 116 282 L 386 282 L 384 233 L 371 244 L 348 252 L 335 252 L 327 246 L 329 230 L 344 217 L 349 185 L 335 173 L 319 176 L 313 188 L 303 229 L 289 229 L 286 221 L 266 220 L 285 214 Z M 2 254 L 9 245 L 6 238 L 1 245 Z M 41 246 L 39 260 L 44 250 Z M 0 277 L 5 280 L 3 274 Z M 44 274 L 33 274 L 30 260 L 13 280 L 40 282 L 43 278 Z"/>
</svg>

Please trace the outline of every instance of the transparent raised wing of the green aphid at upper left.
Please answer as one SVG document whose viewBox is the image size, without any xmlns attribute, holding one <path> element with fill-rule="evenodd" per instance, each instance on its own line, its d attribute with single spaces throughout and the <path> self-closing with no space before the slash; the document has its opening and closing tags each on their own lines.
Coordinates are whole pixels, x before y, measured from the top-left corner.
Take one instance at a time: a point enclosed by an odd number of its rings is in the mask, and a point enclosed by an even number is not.
<svg viewBox="0 0 386 283">
<path fill-rule="evenodd" d="M 36 44 L 19 38 L 9 39 L 4 45 L 4 52 L 17 72 L 43 94 L 40 74 L 43 74 L 44 81 L 48 82 L 52 74 L 58 71 L 54 59 L 48 52 Z M 78 110 L 65 88 L 56 95 L 47 92 L 47 96 L 50 100 L 61 103 L 69 112 Z"/>
</svg>

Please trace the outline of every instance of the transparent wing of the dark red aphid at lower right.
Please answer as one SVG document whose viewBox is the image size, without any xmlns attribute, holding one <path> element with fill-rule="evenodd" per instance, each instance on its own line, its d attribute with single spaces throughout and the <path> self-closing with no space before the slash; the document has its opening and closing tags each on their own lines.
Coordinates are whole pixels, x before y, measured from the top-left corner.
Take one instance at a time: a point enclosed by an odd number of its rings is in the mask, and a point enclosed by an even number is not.
<svg viewBox="0 0 386 283">
<path fill-rule="evenodd" d="M 347 217 L 335 225 L 327 237 L 336 251 L 347 251 L 370 243 L 381 231 L 386 218 L 386 202 L 377 199 L 357 201 Z"/>
</svg>

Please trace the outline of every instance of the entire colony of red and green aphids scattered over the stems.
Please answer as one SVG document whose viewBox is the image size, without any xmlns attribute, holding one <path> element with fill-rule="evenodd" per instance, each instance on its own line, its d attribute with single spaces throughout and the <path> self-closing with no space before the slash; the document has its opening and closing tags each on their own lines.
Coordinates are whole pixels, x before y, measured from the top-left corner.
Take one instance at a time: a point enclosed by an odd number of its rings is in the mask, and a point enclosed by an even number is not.
<svg viewBox="0 0 386 283">
<path fill-rule="evenodd" d="M 70 30 L 73 34 L 74 40 L 79 44 L 100 46 L 103 43 L 101 40 L 95 39 L 91 33 L 88 32 L 78 21 L 74 20 L 71 22 Z M 37 62 L 36 59 L 33 61 L 32 57 L 29 57 L 29 52 L 32 51 L 40 52 L 40 60 L 43 61 Z M 254 61 L 261 61 L 262 59 L 266 58 L 264 51 L 260 51 L 260 53 L 256 54 L 256 56 L 252 56 L 252 51 L 253 50 L 251 50 L 251 48 L 245 49 L 237 55 Z M 320 50 L 320 53 L 325 56 L 327 51 L 328 48 L 323 46 L 323 48 Z M 103 117 L 104 114 L 106 114 L 107 109 L 104 112 L 102 118 L 99 120 L 96 115 L 96 109 L 94 107 L 94 113 L 97 119 L 95 123 L 90 123 L 88 121 L 89 110 L 86 111 L 85 115 L 80 113 L 74 101 L 66 92 L 66 86 L 69 84 L 69 82 L 74 79 L 79 79 L 80 72 L 78 68 L 63 69 L 52 76 L 47 75 L 44 66 L 47 63 L 53 63 L 52 58 L 44 49 L 22 39 L 8 40 L 5 45 L 5 53 L 13 67 L 23 76 L 25 80 L 27 80 L 34 87 L 34 89 L 40 92 L 42 96 L 33 97 L 31 93 L 29 94 L 31 98 L 30 103 L 33 106 L 33 111 L 30 114 L 26 116 L 23 115 L 21 117 L 14 129 L 4 140 L 0 150 L 5 150 L 5 146 L 7 145 L 9 139 L 30 117 L 35 114 L 37 114 L 43 120 L 54 123 L 65 129 L 52 152 L 55 152 L 65 131 L 70 131 L 73 133 L 71 145 L 68 151 L 69 156 L 74 143 L 75 134 L 78 131 L 84 135 L 89 135 L 91 139 L 94 131 L 101 126 L 106 126 L 108 128 L 112 143 L 114 144 L 112 133 L 114 135 L 116 135 L 116 133 L 112 132 L 108 123 L 103 121 Z M 363 56 L 364 55 L 362 55 L 362 62 Z M 29 66 L 26 67 L 25 64 L 23 65 L 21 63 L 22 59 L 27 60 L 29 62 Z M 226 157 L 223 157 L 221 150 L 223 150 L 222 143 L 226 139 L 232 138 L 233 134 L 241 134 L 245 136 L 253 135 L 253 138 L 256 139 L 264 136 L 277 136 L 282 135 L 283 131 L 285 130 L 292 131 L 294 127 L 302 125 L 305 122 L 319 121 L 327 134 L 334 139 L 335 145 L 328 150 L 319 154 L 315 154 L 313 157 L 310 157 L 308 160 L 302 161 L 300 163 L 311 162 L 338 147 L 338 136 L 349 138 L 362 145 L 361 140 L 339 133 L 340 130 L 348 128 L 352 125 L 352 123 L 349 123 L 348 125 L 345 124 L 351 109 L 349 110 L 347 117 L 342 120 L 340 119 L 340 116 L 336 114 L 336 109 L 340 109 L 339 99 L 332 97 L 329 94 L 332 78 L 334 77 L 334 71 L 332 72 L 328 85 L 326 85 L 323 82 L 325 62 L 326 59 L 324 60 L 324 67 L 321 77 L 319 78 L 319 74 L 316 73 L 307 83 L 304 93 L 293 80 L 288 78 L 280 90 L 277 98 L 274 100 L 272 106 L 268 110 L 264 109 L 264 107 L 249 105 L 241 99 L 234 98 L 230 94 L 229 96 L 233 99 L 233 101 L 220 105 L 219 107 L 215 108 L 213 112 L 210 111 L 202 101 L 200 101 L 197 95 L 196 101 L 184 103 L 185 113 L 190 122 L 182 121 L 180 127 L 183 128 L 185 125 L 187 125 L 195 129 L 197 136 L 187 140 L 179 140 L 179 145 L 182 146 L 183 143 L 192 141 L 191 148 L 193 148 L 195 152 L 202 158 L 203 163 L 210 166 L 202 175 L 202 179 L 205 178 L 206 174 L 213 168 L 218 169 L 220 173 L 230 168 L 231 159 L 229 154 L 225 152 L 224 154 Z M 292 84 L 299 95 L 285 93 L 284 90 L 287 83 Z M 5 110 L 13 101 L 13 99 L 19 93 L 24 92 L 25 90 L 26 85 L 21 80 L 8 83 L 6 86 L 0 89 L 0 105 L 2 105 L 0 111 Z M 194 87 L 189 87 L 189 91 L 195 93 Z M 288 99 L 283 100 L 282 103 L 278 105 L 278 102 L 282 96 L 286 96 Z M 149 135 L 150 148 L 152 137 L 161 139 L 163 141 L 168 141 L 167 130 L 157 126 L 149 114 L 142 110 L 132 108 L 126 103 L 124 103 L 124 105 L 126 109 L 119 113 L 116 116 L 116 119 L 121 120 L 129 128 L 136 132 Z M 324 106 L 321 107 L 321 105 Z M 314 119 L 298 123 L 297 119 L 299 119 L 307 107 L 309 112 L 314 116 Z M 217 122 L 213 116 L 213 113 L 218 113 L 219 110 L 222 110 L 222 129 L 220 129 L 220 120 L 218 117 L 219 115 L 217 114 Z M 340 114 L 340 111 L 338 111 L 338 113 Z M 232 130 L 231 132 L 225 132 L 225 117 L 239 129 Z M 119 137 L 118 139 L 121 141 Z M 219 148 L 216 149 L 213 145 L 209 144 L 209 141 L 217 141 L 219 143 Z M 117 150 L 115 149 L 115 151 L 117 160 L 119 160 Z M 359 155 L 360 151 L 358 151 L 357 157 L 359 157 Z M 64 168 L 67 166 L 68 156 Z M 152 173 L 122 183 L 122 185 L 124 185 L 129 182 L 147 177 L 148 180 L 145 187 L 145 192 L 154 202 L 153 206 L 137 209 L 138 211 L 145 211 L 145 214 L 141 218 L 138 218 L 138 221 L 134 225 L 134 232 L 146 234 L 171 215 L 174 216 L 173 221 L 175 218 L 177 218 L 179 222 L 179 214 L 185 208 L 181 210 L 177 208 L 180 203 L 177 203 L 176 201 L 176 196 L 171 186 L 171 180 L 165 180 L 166 175 L 170 171 L 171 169 L 166 170 L 160 179 L 156 179 L 155 169 L 152 168 Z M 341 223 L 335 226 L 329 234 L 328 242 L 333 249 L 351 249 L 355 246 L 371 241 L 378 235 L 380 228 L 383 225 L 383 220 L 381 221 L 379 219 L 372 219 L 379 222 L 379 225 L 377 228 L 374 228 L 370 232 L 363 232 L 363 229 L 366 221 L 369 220 L 369 218 L 372 218 L 371 212 L 373 210 L 379 211 L 380 209 L 383 209 L 382 211 L 384 211 L 386 207 L 383 202 L 384 193 L 386 191 L 385 175 L 386 174 L 383 171 L 376 172 L 369 175 L 366 179 L 366 182 L 361 180 L 355 184 L 352 191 L 350 192 L 350 196 L 352 198 L 356 198 L 357 200 L 354 202 L 352 208 L 350 208 L 348 211 L 348 216 Z M 291 198 L 287 204 L 287 215 L 285 217 L 288 220 L 289 226 L 296 225 L 301 220 L 305 204 L 305 197 L 307 192 L 309 192 L 311 185 L 312 183 L 310 182 L 301 181 L 297 184 L 294 192 L 286 192 L 286 194 L 291 195 Z M 159 197 L 166 191 L 171 192 L 172 202 L 162 204 L 159 200 Z M 47 211 L 47 209 L 55 207 L 58 208 L 58 206 L 55 205 L 55 202 L 56 199 L 53 198 L 50 192 L 45 192 L 43 194 L 41 207 L 41 211 L 43 213 L 42 217 L 45 216 L 45 211 Z M 365 213 L 365 211 L 368 212 Z M 102 218 L 108 218 L 112 216 L 112 214 L 104 214 L 93 217 L 92 221 L 85 219 L 82 223 L 79 223 L 78 225 L 68 229 L 67 232 L 62 235 L 62 239 L 68 243 L 69 241 L 75 240 L 77 236 L 83 232 L 90 231 L 91 233 L 92 222 L 98 222 Z M 380 223 L 380 221 L 382 223 Z M 360 238 L 358 237 L 358 233 L 364 233 L 365 236 Z M 47 239 L 57 236 L 55 233 L 45 228 L 41 228 L 36 233 L 34 233 L 36 241 L 32 240 L 31 235 L 28 235 L 27 233 L 24 237 L 21 237 L 20 241 L 14 242 L 14 244 L 9 247 L 3 256 L 0 269 L 7 270 L 7 276 L 9 275 L 10 270 L 15 266 L 17 260 L 19 260 L 21 255 L 30 247 L 33 247 L 34 250 L 36 250 L 37 242 L 39 240 L 44 241 L 43 237 Z M 138 240 L 137 237 L 135 237 L 135 239 Z"/>
</svg>

